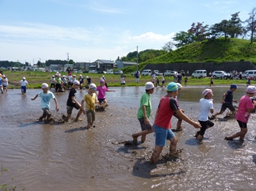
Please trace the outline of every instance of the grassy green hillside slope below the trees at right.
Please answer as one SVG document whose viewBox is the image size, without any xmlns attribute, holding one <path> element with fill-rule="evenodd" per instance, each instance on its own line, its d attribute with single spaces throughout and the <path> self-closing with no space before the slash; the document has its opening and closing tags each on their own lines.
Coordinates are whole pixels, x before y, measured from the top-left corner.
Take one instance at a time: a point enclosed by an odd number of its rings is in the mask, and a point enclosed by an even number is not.
<svg viewBox="0 0 256 191">
<path fill-rule="evenodd" d="M 256 43 L 249 40 L 219 38 L 190 43 L 163 56 L 141 63 L 177 63 L 177 62 L 229 62 L 251 61 L 256 64 Z"/>
</svg>

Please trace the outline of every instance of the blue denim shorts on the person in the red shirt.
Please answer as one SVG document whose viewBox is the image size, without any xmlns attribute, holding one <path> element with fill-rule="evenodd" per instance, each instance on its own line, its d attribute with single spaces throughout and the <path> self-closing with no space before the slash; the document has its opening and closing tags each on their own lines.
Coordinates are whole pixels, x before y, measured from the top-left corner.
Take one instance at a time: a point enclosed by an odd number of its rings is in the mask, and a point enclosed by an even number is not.
<svg viewBox="0 0 256 191">
<path fill-rule="evenodd" d="M 167 140 L 175 137 L 172 130 L 164 129 L 160 126 L 154 125 L 154 133 L 156 135 L 156 145 L 164 147 Z"/>
</svg>

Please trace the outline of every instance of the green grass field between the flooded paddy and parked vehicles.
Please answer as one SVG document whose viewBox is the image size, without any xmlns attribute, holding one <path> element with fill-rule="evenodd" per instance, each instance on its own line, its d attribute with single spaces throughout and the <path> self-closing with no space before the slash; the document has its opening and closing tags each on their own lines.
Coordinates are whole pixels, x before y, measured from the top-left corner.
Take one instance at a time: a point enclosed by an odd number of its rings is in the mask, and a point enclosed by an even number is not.
<svg viewBox="0 0 256 191">
<path fill-rule="evenodd" d="M 50 84 L 50 78 L 52 75 L 55 75 L 55 72 L 10 72 L 4 71 L 5 76 L 8 78 L 9 86 L 8 88 L 20 88 L 19 81 L 23 77 L 27 78 L 28 88 L 41 88 L 42 83 Z M 62 72 L 62 75 L 67 75 L 67 72 Z M 102 77 L 102 74 L 88 74 L 88 73 L 73 73 L 76 75 L 76 79 L 79 78 L 79 75 L 83 75 L 83 78 L 86 78 L 89 75 L 92 78 L 92 83 L 99 85 L 99 80 Z M 120 75 L 105 75 L 106 82 L 110 87 L 121 86 L 121 76 Z M 166 83 L 173 81 L 173 77 L 166 77 Z M 151 76 L 141 76 L 140 82 L 135 83 L 135 78 L 131 74 L 126 74 L 125 86 L 144 86 L 147 81 L 151 81 Z M 159 77 L 161 84 L 161 78 Z M 187 85 L 209 85 L 209 78 L 188 78 Z M 214 79 L 214 84 L 245 84 L 246 80 L 234 80 L 234 79 Z M 254 84 L 254 81 L 252 81 Z M 183 84 L 182 84 L 183 85 Z"/>
</svg>

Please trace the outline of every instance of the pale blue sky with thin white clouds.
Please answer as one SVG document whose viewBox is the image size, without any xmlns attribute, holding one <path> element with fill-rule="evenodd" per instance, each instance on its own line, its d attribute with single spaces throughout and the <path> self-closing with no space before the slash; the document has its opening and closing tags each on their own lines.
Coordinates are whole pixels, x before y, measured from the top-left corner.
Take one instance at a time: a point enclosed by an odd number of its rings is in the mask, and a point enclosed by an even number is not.
<svg viewBox="0 0 256 191">
<path fill-rule="evenodd" d="M 216 24 L 255 0 L 0 0 L 0 60 L 118 59 L 162 49 L 193 22 Z"/>
</svg>

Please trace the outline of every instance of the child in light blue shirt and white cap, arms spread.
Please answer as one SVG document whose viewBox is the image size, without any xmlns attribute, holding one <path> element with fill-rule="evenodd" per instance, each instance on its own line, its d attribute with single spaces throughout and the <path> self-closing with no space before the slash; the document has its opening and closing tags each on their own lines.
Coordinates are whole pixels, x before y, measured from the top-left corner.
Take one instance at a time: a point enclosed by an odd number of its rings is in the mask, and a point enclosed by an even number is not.
<svg viewBox="0 0 256 191">
<path fill-rule="evenodd" d="M 39 118 L 39 121 L 43 121 L 44 118 L 47 117 L 47 121 L 50 121 L 52 118 L 50 113 L 50 99 L 53 99 L 56 104 L 56 110 L 59 110 L 58 102 L 56 97 L 52 92 L 49 91 L 48 84 L 43 83 L 41 86 L 42 90 L 39 94 L 37 94 L 34 98 L 31 98 L 31 100 L 37 99 L 37 97 L 41 97 L 41 108 L 44 111 L 43 116 Z"/>
</svg>

